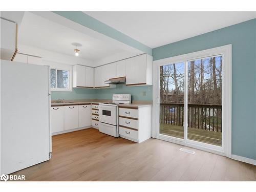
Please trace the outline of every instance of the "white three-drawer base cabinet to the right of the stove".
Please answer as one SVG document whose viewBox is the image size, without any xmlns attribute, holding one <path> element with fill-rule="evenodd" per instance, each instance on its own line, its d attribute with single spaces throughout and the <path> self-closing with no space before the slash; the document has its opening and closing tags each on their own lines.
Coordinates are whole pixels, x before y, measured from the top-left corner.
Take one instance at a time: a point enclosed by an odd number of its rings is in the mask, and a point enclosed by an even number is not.
<svg viewBox="0 0 256 192">
<path fill-rule="evenodd" d="M 152 106 L 119 106 L 119 134 L 122 138 L 134 142 L 143 142 L 151 138 Z"/>
</svg>

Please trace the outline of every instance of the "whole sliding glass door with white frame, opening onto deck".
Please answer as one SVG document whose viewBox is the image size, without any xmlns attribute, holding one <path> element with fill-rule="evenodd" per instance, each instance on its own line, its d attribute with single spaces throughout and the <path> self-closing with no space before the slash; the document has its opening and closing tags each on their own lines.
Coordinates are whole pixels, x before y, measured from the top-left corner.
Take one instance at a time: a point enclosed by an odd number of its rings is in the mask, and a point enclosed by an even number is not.
<svg viewBox="0 0 256 192">
<path fill-rule="evenodd" d="M 230 153 L 230 55 L 223 46 L 154 62 L 156 138 Z"/>
</svg>

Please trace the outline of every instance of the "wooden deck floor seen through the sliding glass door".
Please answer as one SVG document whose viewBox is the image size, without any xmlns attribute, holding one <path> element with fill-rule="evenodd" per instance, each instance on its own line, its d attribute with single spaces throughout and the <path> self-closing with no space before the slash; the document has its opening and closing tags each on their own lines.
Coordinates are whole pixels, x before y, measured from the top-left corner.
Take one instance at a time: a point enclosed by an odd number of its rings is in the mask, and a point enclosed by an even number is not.
<svg viewBox="0 0 256 192">
<path fill-rule="evenodd" d="M 184 127 L 160 123 L 160 134 L 184 138 Z M 208 144 L 221 146 L 221 132 L 213 132 L 197 128 L 188 127 L 187 138 Z"/>
</svg>

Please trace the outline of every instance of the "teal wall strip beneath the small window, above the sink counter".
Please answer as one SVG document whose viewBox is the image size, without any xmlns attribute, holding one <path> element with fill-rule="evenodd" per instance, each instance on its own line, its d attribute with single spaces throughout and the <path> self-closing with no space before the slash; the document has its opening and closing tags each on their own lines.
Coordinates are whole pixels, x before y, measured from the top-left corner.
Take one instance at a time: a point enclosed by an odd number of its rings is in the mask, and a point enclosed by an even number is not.
<svg viewBox="0 0 256 192">
<path fill-rule="evenodd" d="M 51 99 L 96 99 L 96 90 L 73 88 L 71 91 L 51 91 Z"/>
</svg>

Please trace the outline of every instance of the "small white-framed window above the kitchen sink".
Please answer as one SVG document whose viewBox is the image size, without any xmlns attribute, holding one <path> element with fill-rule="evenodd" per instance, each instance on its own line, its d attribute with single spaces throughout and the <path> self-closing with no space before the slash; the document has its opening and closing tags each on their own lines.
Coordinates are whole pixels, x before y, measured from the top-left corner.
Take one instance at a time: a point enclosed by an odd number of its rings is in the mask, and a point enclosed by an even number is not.
<svg viewBox="0 0 256 192">
<path fill-rule="evenodd" d="M 51 69 L 51 90 L 71 91 L 69 70 Z"/>
</svg>

